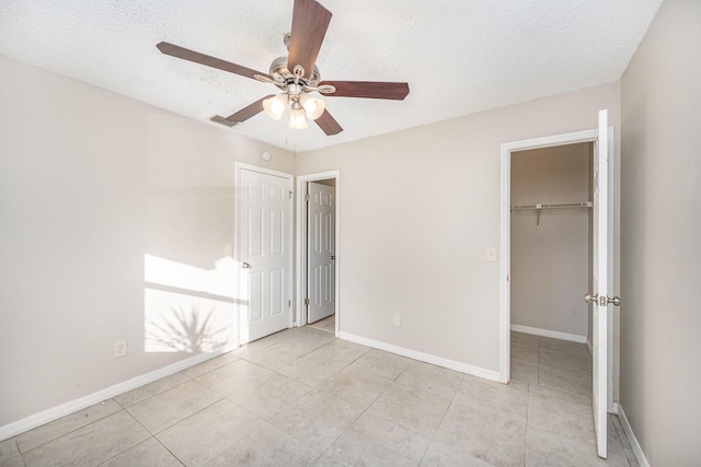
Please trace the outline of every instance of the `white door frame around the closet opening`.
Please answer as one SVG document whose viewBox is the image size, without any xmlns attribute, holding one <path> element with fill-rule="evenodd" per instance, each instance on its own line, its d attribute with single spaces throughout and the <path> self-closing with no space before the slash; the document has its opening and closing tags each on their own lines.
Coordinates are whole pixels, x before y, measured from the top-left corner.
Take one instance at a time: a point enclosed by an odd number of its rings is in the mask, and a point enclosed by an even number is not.
<svg viewBox="0 0 701 467">
<path fill-rule="evenodd" d="M 612 235 L 608 238 L 609 248 L 612 248 L 612 240 L 617 236 L 618 229 L 618 210 L 613 205 L 613 198 L 618 199 L 618 173 L 617 173 L 617 157 L 618 152 L 613 143 L 614 131 L 612 127 L 608 127 L 608 140 L 609 140 L 609 167 L 610 167 L 610 183 L 613 185 L 610 187 L 612 196 L 609 197 L 609 225 L 613 231 Z M 510 303 L 510 268 L 512 268 L 512 152 L 524 151 L 530 149 L 551 148 L 558 145 L 568 145 L 583 142 L 594 142 L 598 139 L 598 130 L 584 130 L 570 133 L 553 135 L 541 138 L 532 138 L 528 140 L 512 141 L 502 143 L 501 149 L 501 200 L 499 200 L 499 381 L 502 383 L 508 383 L 510 380 L 510 329 L 512 329 L 512 303 Z M 611 249 L 613 250 L 613 249 Z M 612 262 L 618 265 L 617 256 L 614 254 Z M 613 279 L 613 275 L 619 273 L 618 268 L 609 273 L 609 281 L 618 283 L 618 280 Z M 584 295 L 583 295 L 584 296 Z M 584 300 L 584 299 L 583 299 Z M 608 334 L 608 406 L 609 412 L 616 412 L 617 406 L 613 404 L 613 335 L 618 334 L 618 329 L 614 329 L 613 313 L 609 313 L 609 334 Z M 589 330 L 590 331 L 590 330 Z M 618 369 L 617 369 L 618 370 Z M 617 376 L 617 375 L 616 375 Z"/>
</svg>

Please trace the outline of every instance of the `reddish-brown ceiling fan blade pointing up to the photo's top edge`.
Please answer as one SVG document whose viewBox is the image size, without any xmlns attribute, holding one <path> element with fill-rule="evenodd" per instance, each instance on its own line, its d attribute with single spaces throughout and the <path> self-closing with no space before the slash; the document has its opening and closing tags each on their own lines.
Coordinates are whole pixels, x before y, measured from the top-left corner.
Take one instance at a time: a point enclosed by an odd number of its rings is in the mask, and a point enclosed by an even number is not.
<svg viewBox="0 0 701 467">
<path fill-rule="evenodd" d="M 304 68 L 304 77 L 311 75 L 321 43 L 331 22 L 331 12 L 314 0 L 295 0 L 292 31 L 289 34 L 287 69 Z"/>
</svg>

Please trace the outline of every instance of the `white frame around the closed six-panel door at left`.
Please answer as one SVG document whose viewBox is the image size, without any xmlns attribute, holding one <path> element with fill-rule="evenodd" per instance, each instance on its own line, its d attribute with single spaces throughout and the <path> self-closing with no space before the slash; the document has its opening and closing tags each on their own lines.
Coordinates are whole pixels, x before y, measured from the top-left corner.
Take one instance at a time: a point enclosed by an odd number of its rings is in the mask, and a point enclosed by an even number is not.
<svg viewBox="0 0 701 467">
<path fill-rule="evenodd" d="M 288 174 L 285 172 L 279 172 L 279 171 L 273 171 L 272 168 L 265 168 L 265 167 L 261 167 L 257 165 L 251 165 L 251 164 L 244 164 L 243 162 L 234 162 L 233 164 L 233 186 L 234 186 L 234 196 L 233 196 L 233 262 L 234 262 L 234 270 L 235 270 L 235 277 L 234 277 L 234 281 L 235 281 L 235 296 L 241 296 L 241 250 L 240 250 L 240 240 L 241 240 L 241 212 L 240 212 L 240 206 L 239 206 L 239 201 L 240 201 L 240 195 L 239 195 L 239 189 L 241 188 L 241 170 L 246 170 L 246 171 L 252 171 L 252 172 L 258 172 L 261 174 L 265 174 L 265 175 L 272 175 L 272 176 L 276 176 L 276 177 L 283 177 L 283 178 L 287 178 L 289 182 L 289 207 L 290 207 L 290 215 L 287 220 L 288 222 L 288 232 L 289 232 L 289 238 L 287 241 L 287 250 L 289 252 L 288 254 L 288 259 L 287 259 L 287 266 L 289 268 L 289 278 L 288 278 L 288 290 L 289 290 L 289 301 L 290 301 L 290 305 L 292 302 L 292 296 L 295 294 L 295 290 L 292 288 L 294 285 L 294 279 L 292 276 L 295 273 L 294 270 L 294 232 L 292 232 L 292 212 L 291 212 L 291 208 L 294 208 L 292 205 L 292 198 L 295 196 L 295 176 L 292 174 Z M 248 303 L 246 303 L 248 305 Z M 237 347 L 241 346 L 241 323 L 242 323 L 242 307 L 243 307 L 243 303 L 241 300 L 237 301 Z M 287 324 L 287 327 L 290 328 L 294 325 L 294 318 L 295 318 L 295 313 L 294 313 L 294 308 L 291 306 L 288 307 L 289 308 L 289 320 Z"/>
</svg>

